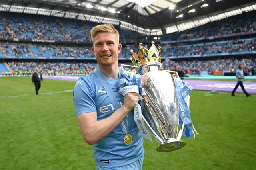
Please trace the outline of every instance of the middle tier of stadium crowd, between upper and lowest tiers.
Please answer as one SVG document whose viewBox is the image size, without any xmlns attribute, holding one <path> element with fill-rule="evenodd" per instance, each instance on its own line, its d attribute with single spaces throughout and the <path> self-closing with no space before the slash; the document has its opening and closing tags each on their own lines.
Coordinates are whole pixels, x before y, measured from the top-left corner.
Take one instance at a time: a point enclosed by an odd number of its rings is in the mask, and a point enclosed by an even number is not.
<svg viewBox="0 0 256 170">
<path fill-rule="evenodd" d="M 33 45 L 26 43 L 1 43 L 2 51 L 0 57 L 46 57 L 46 58 L 87 58 L 94 57 L 91 53 L 90 47 L 81 46 L 65 46 L 65 45 L 52 45 L 41 44 Z M 245 52 L 255 51 L 256 38 L 251 39 L 235 39 L 232 41 L 220 41 L 213 43 L 200 43 L 191 45 L 171 46 L 164 45 L 162 48 L 163 57 L 170 56 L 192 56 L 192 55 L 208 55 L 218 53 L 232 53 L 232 52 Z M 138 52 L 138 47 L 132 48 L 134 52 Z M 120 58 L 129 59 L 131 57 L 130 46 L 123 47 L 119 55 Z"/>
</svg>

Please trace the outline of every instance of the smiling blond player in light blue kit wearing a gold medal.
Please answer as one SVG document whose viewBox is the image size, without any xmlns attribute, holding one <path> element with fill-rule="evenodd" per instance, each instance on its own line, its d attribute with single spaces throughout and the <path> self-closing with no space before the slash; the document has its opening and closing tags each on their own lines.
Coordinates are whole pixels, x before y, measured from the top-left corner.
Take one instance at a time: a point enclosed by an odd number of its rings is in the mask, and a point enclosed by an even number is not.
<svg viewBox="0 0 256 170">
<path fill-rule="evenodd" d="M 92 28 L 91 37 L 98 67 L 78 79 L 73 93 L 82 135 L 94 148 L 96 170 L 141 170 L 143 138 L 133 113 L 138 94 L 123 97 L 117 89 L 119 33 L 103 24 Z"/>
</svg>

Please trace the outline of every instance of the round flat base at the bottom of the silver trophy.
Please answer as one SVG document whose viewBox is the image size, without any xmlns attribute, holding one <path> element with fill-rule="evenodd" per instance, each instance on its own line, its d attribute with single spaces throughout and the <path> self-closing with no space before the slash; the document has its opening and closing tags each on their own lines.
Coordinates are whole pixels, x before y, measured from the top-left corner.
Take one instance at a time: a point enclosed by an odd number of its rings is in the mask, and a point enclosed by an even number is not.
<svg viewBox="0 0 256 170">
<path fill-rule="evenodd" d="M 158 145 L 156 148 L 156 151 L 158 152 L 171 152 L 174 150 L 181 149 L 186 145 L 185 142 L 177 140 L 175 138 L 170 138 L 167 141 L 164 142 L 164 144 Z"/>
</svg>

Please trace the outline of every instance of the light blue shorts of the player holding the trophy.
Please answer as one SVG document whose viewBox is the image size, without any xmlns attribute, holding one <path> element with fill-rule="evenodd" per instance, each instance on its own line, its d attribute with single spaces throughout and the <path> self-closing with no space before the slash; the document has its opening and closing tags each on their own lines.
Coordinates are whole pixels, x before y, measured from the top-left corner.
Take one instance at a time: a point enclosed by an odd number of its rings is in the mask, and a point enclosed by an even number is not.
<svg viewBox="0 0 256 170">
<path fill-rule="evenodd" d="M 129 165 L 118 166 L 115 168 L 110 168 L 110 167 L 105 168 L 105 167 L 96 166 L 96 170 L 142 170 L 143 160 L 144 160 L 144 155 L 142 155 L 139 160 Z"/>
</svg>

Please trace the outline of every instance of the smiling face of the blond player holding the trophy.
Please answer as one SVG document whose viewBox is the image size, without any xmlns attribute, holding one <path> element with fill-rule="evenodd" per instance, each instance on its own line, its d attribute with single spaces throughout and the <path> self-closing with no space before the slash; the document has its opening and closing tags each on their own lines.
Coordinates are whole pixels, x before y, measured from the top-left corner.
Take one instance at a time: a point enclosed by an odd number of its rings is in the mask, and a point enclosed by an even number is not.
<svg viewBox="0 0 256 170">
<path fill-rule="evenodd" d="M 118 64 L 118 53 L 122 48 L 113 33 L 102 32 L 94 37 L 92 52 L 99 66 L 112 66 Z"/>
</svg>

